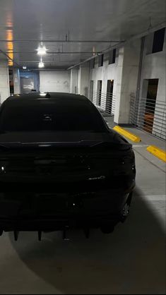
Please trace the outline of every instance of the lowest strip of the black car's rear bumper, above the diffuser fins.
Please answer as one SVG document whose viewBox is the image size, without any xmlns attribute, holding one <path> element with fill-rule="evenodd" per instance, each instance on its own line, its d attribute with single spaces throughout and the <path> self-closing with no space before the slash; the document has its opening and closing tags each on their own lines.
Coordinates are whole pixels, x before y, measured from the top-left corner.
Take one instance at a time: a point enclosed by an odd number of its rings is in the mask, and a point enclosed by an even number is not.
<svg viewBox="0 0 166 295">
<path fill-rule="evenodd" d="M 15 217 L 1 218 L 0 228 L 4 231 L 57 231 L 69 228 L 98 228 L 120 221 L 120 212 L 114 215 L 96 215 L 93 217 Z"/>
</svg>

